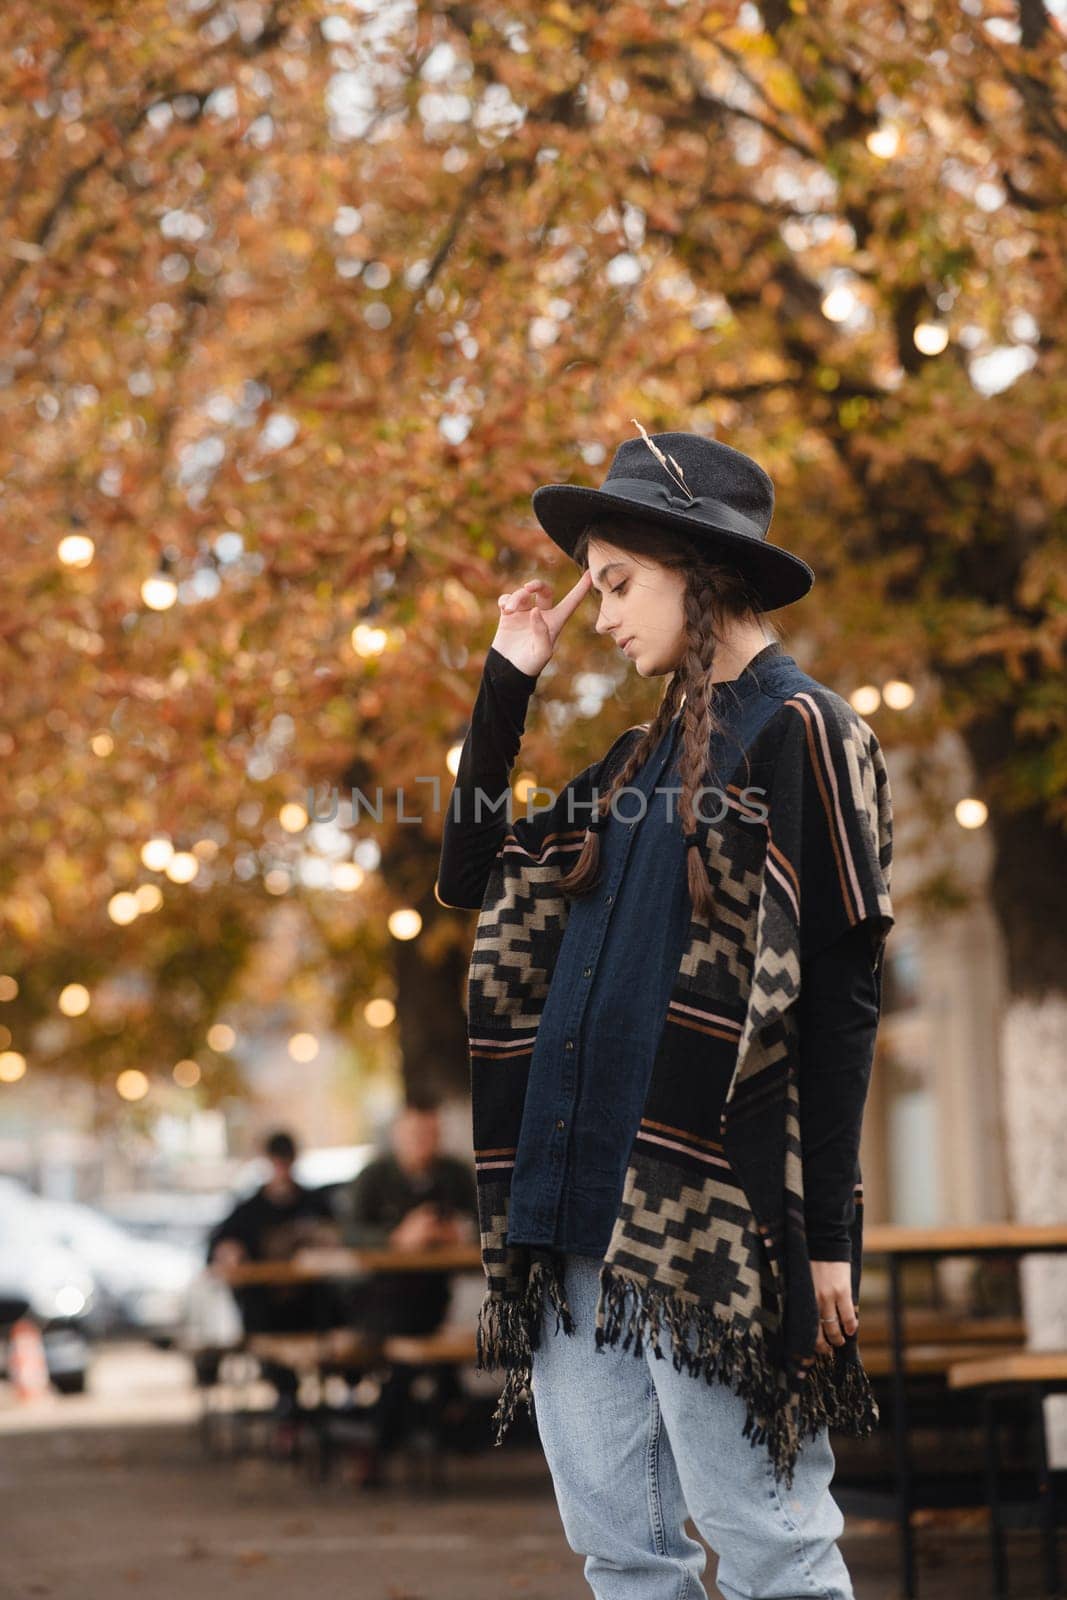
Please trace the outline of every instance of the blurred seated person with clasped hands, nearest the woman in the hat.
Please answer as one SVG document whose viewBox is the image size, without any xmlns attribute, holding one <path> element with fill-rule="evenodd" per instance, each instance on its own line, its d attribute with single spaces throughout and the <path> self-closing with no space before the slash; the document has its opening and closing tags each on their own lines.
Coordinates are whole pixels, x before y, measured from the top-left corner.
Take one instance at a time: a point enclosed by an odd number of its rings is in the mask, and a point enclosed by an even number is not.
<svg viewBox="0 0 1067 1600">
<path fill-rule="evenodd" d="M 429 1094 L 410 1094 L 390 1128 L 390 1149 L 371 1160 L 338 1202 L 344 1243 L 397 1251 L 478 1242 L 478 1198 L 472 1166 L 440 1150 L 440 1112 Z M 381 1272 L 366 1283 L 363 1328 L 437 1333 L 451 1302 L 448 1272 Z M 365 1483 L 382 1482 L 384 1458 L 403 1438 L 410 1416 L 411 1370 L 390 1373 L 379 1402 L 376 1459 Z M 454 1366 L 434 1370 L 438 1414 L 458 1421 L 466 1398 Z"/>
</svg>

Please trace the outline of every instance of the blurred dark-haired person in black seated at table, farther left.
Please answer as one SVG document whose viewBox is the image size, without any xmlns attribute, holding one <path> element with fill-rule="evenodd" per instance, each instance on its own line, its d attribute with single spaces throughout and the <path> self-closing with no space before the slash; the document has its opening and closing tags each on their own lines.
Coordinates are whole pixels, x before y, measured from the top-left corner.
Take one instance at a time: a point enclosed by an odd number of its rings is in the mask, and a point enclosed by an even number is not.
<svg viewBox="0 0 1067 1600">
<path fill-rule="evenodd" d="M 341 1242 L 326 1197 L 293 1178 L 293 1134 L 272 1133 L 262 1149 L 270 1178 L 254 1195 L 238 1202 L 208 1240 L 208 1264 L 221 1275 L 248 1261 L 290 1261 L 298 1250 Z M 342 1320 L 328 1283 L 238 1283 L 234 1298 L 245 1333 L 309 1333 Z M 291 1410 L 296 1374 L 270 1362 L 264 1363 L 264 1376 L 277 1387 L 280 1400 L 290 1402 L 280 1410 Z"/>
</svg>

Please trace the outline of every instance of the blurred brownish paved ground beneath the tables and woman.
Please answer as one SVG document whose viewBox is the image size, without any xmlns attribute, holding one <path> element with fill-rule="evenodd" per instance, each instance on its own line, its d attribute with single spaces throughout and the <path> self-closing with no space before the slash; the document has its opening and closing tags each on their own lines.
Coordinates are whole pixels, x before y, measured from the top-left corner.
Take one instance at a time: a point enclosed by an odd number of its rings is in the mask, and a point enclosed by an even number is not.
<svg viewBox="0 0 1067 1600">
<path fill-rule="evenodd" d="M 0 1400 L 3 1600 L 590 1600 L 536 1450 L 453 1464 L 443 1493 L 315 1486 L 283 1462 L 205 1462 L 179 1357 L 114 1350 L 93 1392 Z M 920 1534 L 921 1600 L 990 1594 L 984 1528 Z M 849 1522 L 857 1600 L 896 1597 L 885 1523 Z M 1013 1536 L 1013 1600 L 1037 1600 L 1032 1536 Z M 707 1589 L 715 1557 L 709 1555 Z"/>
</svg>

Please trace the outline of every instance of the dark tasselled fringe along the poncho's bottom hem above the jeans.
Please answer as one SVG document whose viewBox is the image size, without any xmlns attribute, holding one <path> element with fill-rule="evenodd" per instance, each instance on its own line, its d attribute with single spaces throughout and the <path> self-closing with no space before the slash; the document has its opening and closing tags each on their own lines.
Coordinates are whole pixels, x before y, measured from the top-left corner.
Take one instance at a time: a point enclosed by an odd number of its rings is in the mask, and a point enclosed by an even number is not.
<svg viewBox="0 0 1067 1600">
<path fill-rule="evenodd" d="M 766 1341 L 750 1330 L 733 1326 L 707 1306 L 681 1299 L 657 1286 L 641 1286 L 608 1267 L 601 1269 L 597 1349 L 633 1346 L 640 1357 L 649 1346 L 664 1360 L 661 1331 L 669 1334 L 673 1370 L 702 1376 L 709 1384 L 731 1389 L 745 1405 L 742 1438 L 766 1446 L 776 1477 L 787 1488 L 793 1482 L 803 1438 L 814 1438 L 822 1427 L 835 1427 L 856 1438 L 870 1435 L 878 1422 L 878 1403 L 867 1373 L 857 1362 L 816 1357 L 800 1392 L 790 1398 L 779 1365 Z M 533 1350 L 539 1344 L 545 1302 L 557 1314 L 555 1331 L 574 1333 L 566 1302 L 561 1266 L 557 1256 L 531 1262 L 522 1298 L 499 1299 L 486 1294 L 478 1312 L 478 1371 L 506 1371 L 504 1389 L 493 1413 L 494 1445 L 504 1443 L 520 1405 L 533 1418 Z M 629 1306 L 627 1306 L 629 1302 Z M 696 1333 L 696 1347 L 691 1336 Z M 837 1365 L 837 1371 L 835 1371 Z"/>
</svg>

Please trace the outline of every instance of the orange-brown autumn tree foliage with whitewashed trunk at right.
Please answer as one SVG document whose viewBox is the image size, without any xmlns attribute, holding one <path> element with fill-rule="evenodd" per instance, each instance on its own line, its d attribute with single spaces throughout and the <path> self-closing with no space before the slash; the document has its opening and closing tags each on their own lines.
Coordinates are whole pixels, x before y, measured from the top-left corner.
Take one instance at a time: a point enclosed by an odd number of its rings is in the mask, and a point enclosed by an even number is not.
<svg viewBox="0 0 1067 1600">
<path fill-rule="evenodd" d="M 530 493 L 598 482 L 637 414 L 768 467 L 773 533 L 819 576 L 784 618 L 805 659 L 843 691 L 923 686 L 878 712 L 891 757 L 966 742 L 1006 1078 L 1043 1107 L 1014 1166 L 1056 1171 L 1067 125 L 1045 5 L 13 0 L 0 29 L 8 970 L 91 950 L 158 990 L 176 941 L 210 960 L 226 909 L 251 949 L 282 890 L 339 1024 L 390 970 L 410 1072 L 461 1085 L 461 1027 L 410 1013 L 421 960 L 461 998 L 440 819 L 354 826 L 378 862 L 339 891 L 277 818 L 352 774 L 448 792 L 496 594 L 568 581 Z M 568 632 L 542 675 L 542 782 L 649 709 L 598 648 Z M 115 934 L 152 834 L 218 851 Z M 398 962 L 397 904 L 424 917 Z M 32 1029 L 50 984 L 22 994 Z"/>
</svg>

